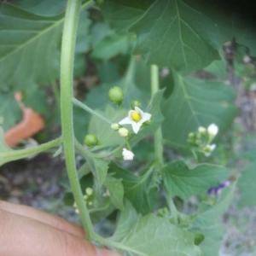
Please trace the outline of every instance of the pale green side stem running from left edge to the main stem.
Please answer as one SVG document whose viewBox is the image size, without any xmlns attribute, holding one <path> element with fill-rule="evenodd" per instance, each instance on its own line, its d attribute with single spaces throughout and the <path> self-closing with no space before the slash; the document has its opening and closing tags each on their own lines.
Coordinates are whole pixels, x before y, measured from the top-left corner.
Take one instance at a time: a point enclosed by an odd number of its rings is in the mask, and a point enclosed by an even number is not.
<svg viewBox="0 0 256 256">
<path fill-rule="evenodd" d="M 19 160 L 27 156 L 30 156 L 32 154 L 38 154 L 49 148 L 59 146 L 60 144 L 61 144 L 61 137 L 56 138 L 55 140 L 49 143 L 41 144 L 34 148 L 10 150 L 8 152 L 0 153 L 0 163 L 2 165 L 4 163 L 8 163 L 9 161 Z"/>
</svg>

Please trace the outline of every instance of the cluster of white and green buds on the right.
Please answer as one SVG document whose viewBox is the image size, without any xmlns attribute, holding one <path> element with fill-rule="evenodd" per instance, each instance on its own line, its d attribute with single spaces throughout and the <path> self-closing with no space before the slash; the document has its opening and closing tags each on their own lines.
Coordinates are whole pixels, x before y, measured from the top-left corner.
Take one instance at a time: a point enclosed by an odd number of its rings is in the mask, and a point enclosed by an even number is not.
<svg viewBox="0 0 256 256">
<path fill-rule="evenodd" d="M 188 143 L 190 148 L 194 152 L 198 151 L 209 156 L 216 148 L 216 145 L 211 143 L 217 133 L 218 126 L 215 124 L 209 125 L 208 128 L 200 126 L 198 131 L 189 133 Z"/>
</svg>

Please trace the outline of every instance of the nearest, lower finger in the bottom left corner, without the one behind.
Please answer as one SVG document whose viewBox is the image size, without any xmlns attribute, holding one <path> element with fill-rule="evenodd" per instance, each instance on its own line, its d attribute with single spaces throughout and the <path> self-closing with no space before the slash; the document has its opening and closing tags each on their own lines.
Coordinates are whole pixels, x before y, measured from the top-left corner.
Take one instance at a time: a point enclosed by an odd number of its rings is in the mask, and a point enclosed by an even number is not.
<svg viewBox="0 0 256 256">
<path fill-rule="evenodd" d="M 79 236 L 0 209 L 0 255 L 5 256 L 119 256 L 96 249 Z"/>
</svg>

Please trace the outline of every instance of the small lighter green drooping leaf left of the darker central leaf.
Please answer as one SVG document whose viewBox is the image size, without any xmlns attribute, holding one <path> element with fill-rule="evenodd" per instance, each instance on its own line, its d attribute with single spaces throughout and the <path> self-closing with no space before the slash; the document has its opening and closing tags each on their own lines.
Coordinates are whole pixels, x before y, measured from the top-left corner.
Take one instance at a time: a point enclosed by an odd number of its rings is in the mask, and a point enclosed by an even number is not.
<svg viewBox="0 0 256 256">
<path fill-rule="evenodd" d="M 122 182 L 115 178 L 108 176 L 104 182 L 106 185 L 111 201 L 113 202 L 113 205 L 119 210 L 124 210 L 124 204 L 123 204 L 123 198 L 124 198 L 124 187 Z"/>
</svg>

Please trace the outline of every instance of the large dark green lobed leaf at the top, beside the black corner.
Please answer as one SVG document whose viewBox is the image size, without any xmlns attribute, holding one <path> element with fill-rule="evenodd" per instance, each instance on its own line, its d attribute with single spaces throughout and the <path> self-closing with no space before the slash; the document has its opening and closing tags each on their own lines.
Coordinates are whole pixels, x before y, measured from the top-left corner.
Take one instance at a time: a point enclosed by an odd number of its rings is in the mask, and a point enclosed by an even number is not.
<svg viewBox="0 0 256 256">
<path fill-rule="evenodd" d="M 137 34 L 135 54 L 149 64 L 188 73 L 219 59 L 218 50 L 230 38 L 224 22 L 230 24 L 212 3 L 159 0 L 129 31 Z"/>
</svg>

